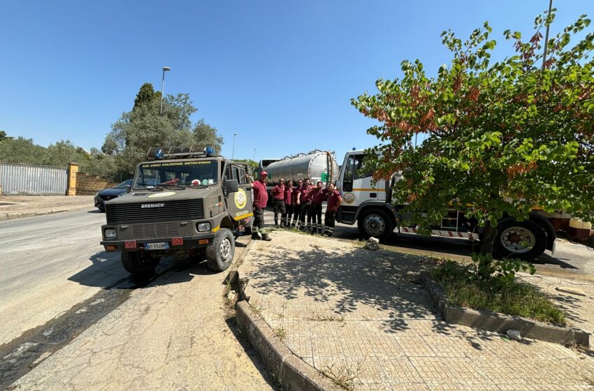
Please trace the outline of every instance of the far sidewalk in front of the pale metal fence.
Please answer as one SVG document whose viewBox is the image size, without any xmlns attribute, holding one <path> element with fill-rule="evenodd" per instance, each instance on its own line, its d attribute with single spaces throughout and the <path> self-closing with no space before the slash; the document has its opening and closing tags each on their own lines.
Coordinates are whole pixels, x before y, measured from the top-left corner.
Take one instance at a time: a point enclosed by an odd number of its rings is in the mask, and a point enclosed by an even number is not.
<svg viewBox="0 0 594 391">
<path fill-rule="evenodd" d="M 0 195 L 0 221 L 93 208 L 94 195 Z"/>
</svg>

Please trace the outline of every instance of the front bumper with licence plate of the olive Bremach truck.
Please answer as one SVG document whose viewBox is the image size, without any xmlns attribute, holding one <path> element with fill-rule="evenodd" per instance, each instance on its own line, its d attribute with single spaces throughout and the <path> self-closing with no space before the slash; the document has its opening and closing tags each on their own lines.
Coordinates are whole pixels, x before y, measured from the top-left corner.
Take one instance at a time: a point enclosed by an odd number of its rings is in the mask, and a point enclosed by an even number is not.
<svg viewBox="0 0 594 391">
<path fill-rule="evenodd" d="M 176 237 L 176 240 L 182 239 L 182 244 L 173 244 L 173 237 L 159 237 L 157 239 L 130 239 L 130 240 L 109 240 L 101 241 L 101 245 L 108 252 L 113 251 L 155 251 L 168 252 L 182 249 L 200 249 L 212 244 L 214 233 L 204 233 L 202 235 Z M 169 248 L 166 250 L 145 250 L 145 243 L 163 243 L 167 242 Z"/>
</svg>

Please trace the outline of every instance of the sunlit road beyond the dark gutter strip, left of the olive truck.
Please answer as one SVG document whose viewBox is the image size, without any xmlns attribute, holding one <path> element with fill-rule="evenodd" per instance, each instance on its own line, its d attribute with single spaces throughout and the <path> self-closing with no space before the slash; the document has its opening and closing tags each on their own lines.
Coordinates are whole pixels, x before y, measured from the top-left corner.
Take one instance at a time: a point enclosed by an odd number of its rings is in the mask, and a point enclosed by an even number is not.
<svg viewBox="0 0 594 391">
<path fill-rule="evenodd" d="M 127 277 L 99 245 L 104 221 L 85 210 L 0 222 L 0 346 Z"/>
</svg>

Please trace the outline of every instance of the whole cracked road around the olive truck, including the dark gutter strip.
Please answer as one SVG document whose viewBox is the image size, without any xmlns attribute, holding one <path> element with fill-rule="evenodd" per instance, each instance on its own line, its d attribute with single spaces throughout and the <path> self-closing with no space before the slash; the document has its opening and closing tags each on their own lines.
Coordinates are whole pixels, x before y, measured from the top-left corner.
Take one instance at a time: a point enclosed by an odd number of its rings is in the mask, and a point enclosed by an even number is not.
<svg viewBox="0 0 594 391">
<path fill-rule="evenodd" d="M 151 281 L 132 279 L 99 245 L 104 220 L 0 222 L 0 389 L 272 389 L 226 320 L 226 274 L 166 259 Z"/>
</svg>

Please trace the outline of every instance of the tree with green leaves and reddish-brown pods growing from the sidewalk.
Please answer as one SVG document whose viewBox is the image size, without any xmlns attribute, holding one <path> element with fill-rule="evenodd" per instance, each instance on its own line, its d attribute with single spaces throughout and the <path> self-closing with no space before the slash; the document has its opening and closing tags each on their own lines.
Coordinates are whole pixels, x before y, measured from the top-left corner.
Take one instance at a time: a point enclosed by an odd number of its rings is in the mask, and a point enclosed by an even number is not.
<svg viewBox="0 0 594 391">
<path fill-rule="evenodd" d="M 393 194 L 414 223 L 428 229 L 454 207 L 484 227 L 475 258 L 485 278 L 504 216 L 523 221 L 539 205 L 588 220 L 594 209 L 594 33 L 581 15 L 549 40 L 543 66 L 542 30 L 553 19 L 554 10 L 537 17 L 528 40 L 505 31 L 516 55 L 495 63 L 488 22 L 464 42 L 444 31 L 452 59 L 437 75 L 403 61 L 403 78 L 377 80 L 377 94 L 352 100 L 379 121 L 368 129 L 380 140 L 368 167 L 375 179 L 402 173 Z"/>
</svg>

